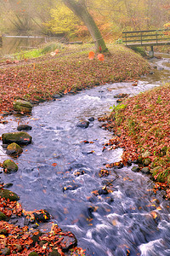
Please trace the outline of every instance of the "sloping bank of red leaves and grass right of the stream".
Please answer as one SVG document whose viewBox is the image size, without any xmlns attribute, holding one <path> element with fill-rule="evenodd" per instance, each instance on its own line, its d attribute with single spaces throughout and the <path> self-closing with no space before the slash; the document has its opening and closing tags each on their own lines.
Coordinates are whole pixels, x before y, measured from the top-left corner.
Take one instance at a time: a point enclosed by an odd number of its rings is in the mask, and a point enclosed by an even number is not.
<svg viewBox="0 0 170 256">
<path fill-rule="evenodd" d="M 114 132 L 106 146 L 123 148 L 122 162 L 138 166 L 134 172 L 151 173 L 157 189 L 170 198 L 170 84 L 124 100 L 113 108 L 106 129 Z"/>
</svg>

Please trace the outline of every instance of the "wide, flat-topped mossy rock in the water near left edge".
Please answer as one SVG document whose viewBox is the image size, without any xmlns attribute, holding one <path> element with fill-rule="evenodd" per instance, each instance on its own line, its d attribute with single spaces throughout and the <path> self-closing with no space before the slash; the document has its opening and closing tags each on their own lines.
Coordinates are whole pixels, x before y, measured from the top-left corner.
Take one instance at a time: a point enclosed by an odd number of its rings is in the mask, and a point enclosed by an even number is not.
<svg viewBox="0 0 170 256">
<path fill-rule="evenodd" d="M 17 143 L 27 145 L 31 143 L 31 136 L 25 131 L 8 132 L 2 135 L 3 144 Z"/>
</svg>

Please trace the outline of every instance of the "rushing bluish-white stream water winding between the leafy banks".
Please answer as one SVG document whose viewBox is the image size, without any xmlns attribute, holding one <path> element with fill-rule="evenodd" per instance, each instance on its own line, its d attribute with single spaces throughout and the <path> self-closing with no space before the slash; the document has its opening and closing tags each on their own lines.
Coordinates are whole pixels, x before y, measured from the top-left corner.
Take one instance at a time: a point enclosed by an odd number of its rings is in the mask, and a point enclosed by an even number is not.
<svg viewBox="0 0 170 256">
<path fill-rule="evenodd" d="M 98 121 L 116 104 L 116 94 L 133 96 L 168 81 L 169 60 L 153 59 L 153 65 L 164 69 L 141 78 L 136 87 L 116 83 L 83 90 L 38 105 L 31 117 L 9 116 L 8 124 L 0 125 L 1 134 L 16 131 L 19 122 L 32 126 L 32 143 L 16 160 L 19 171 L 1 174 L 1 181 L 13 183 L 11 189 L 26 210 L 48 210 L 54 223 L 77 236 L 88 256 L 170 255 L 169 201 L 162 191 L 153 193 L 151 178 L 132 172 L 132 166 L 99 177 L 106 163 L 121 160 L 122 149 L 102 150 L 111 133 Z M 94 121 L 87 129 L 77 127 L 90 117 Z M 1 162 L 8 159 L 3 148 L 1 155 Z M 111 183 L 110 194 L 92 193 L 106 183 Z"/>
</svg>

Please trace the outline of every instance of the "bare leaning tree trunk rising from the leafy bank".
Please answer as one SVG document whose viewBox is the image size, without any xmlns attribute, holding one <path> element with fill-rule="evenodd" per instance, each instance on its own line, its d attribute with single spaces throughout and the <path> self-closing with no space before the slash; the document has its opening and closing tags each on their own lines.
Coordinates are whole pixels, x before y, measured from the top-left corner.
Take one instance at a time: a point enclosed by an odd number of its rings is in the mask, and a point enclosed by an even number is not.
<svg viewBox="0 0 170 256">
<path fill-rule="evenodd" d="M 63 3 L 65 3 L 65 5 L 83 21 L 85 26 L 88 27 L 88 31 L 94 39 L 96 51 L 98 51 L 99 48 L 102 49 L 102 52 L 108 51 L 98 26 L 95 24 L 93 17 L 88 13 L 84 0 L 79 0 L 78 2 L 75 0 L 63 0 Z"/>
</svg>

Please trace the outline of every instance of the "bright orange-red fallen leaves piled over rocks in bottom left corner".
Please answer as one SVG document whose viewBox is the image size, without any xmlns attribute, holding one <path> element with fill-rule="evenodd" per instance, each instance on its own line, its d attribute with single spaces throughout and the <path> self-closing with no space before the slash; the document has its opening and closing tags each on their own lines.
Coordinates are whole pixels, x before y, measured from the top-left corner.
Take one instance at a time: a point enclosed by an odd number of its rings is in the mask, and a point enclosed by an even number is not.
<svg viewBox="0 0 170 256">
<path fill-rule="evenodd" d="M 3 189 L 1 185 L 1 189 Z M 45 210 L 26 212 L 17 201 L 9 201 L 9 199 L 0 197 L 0 213 L 5 214 L 5 218 L 27 218 L 37 221 L 37 214 L 42 214 L 43 218 L 48 221 L 48 215 Z M 36 213 L 36 214 L 35 214 Z M 6 219 L 6 220 L 8 220 Z M 37 224 L 37 223 L 36 223 Z M 74 241 L 75 236 L 71 232 L 62 231 L 57 224 L 52 224 L 49 232 L 40 232 L 37 229 L 9 224 L 7 221 L 0 221 L 0 254 L 8 247 L 8 254 L 3 255 L 20 255 L 26 256 L 31 252 L 36 252 L 38 255 L 48 255 L 53 249 L 64 256 L 65 247 L 70 238 Z M 35 242 L 36 239 L 36 242 Z M 43 241 L 43 242 L 42 242 Z M 44 242 L 45 241 L 45 242 Z M 67 250 L 68 251 L 68 250 Z M 84 255 L 84 250 L 77 247 L 75 242 L 71 243 L 71 255 Z"/>
</svg>

